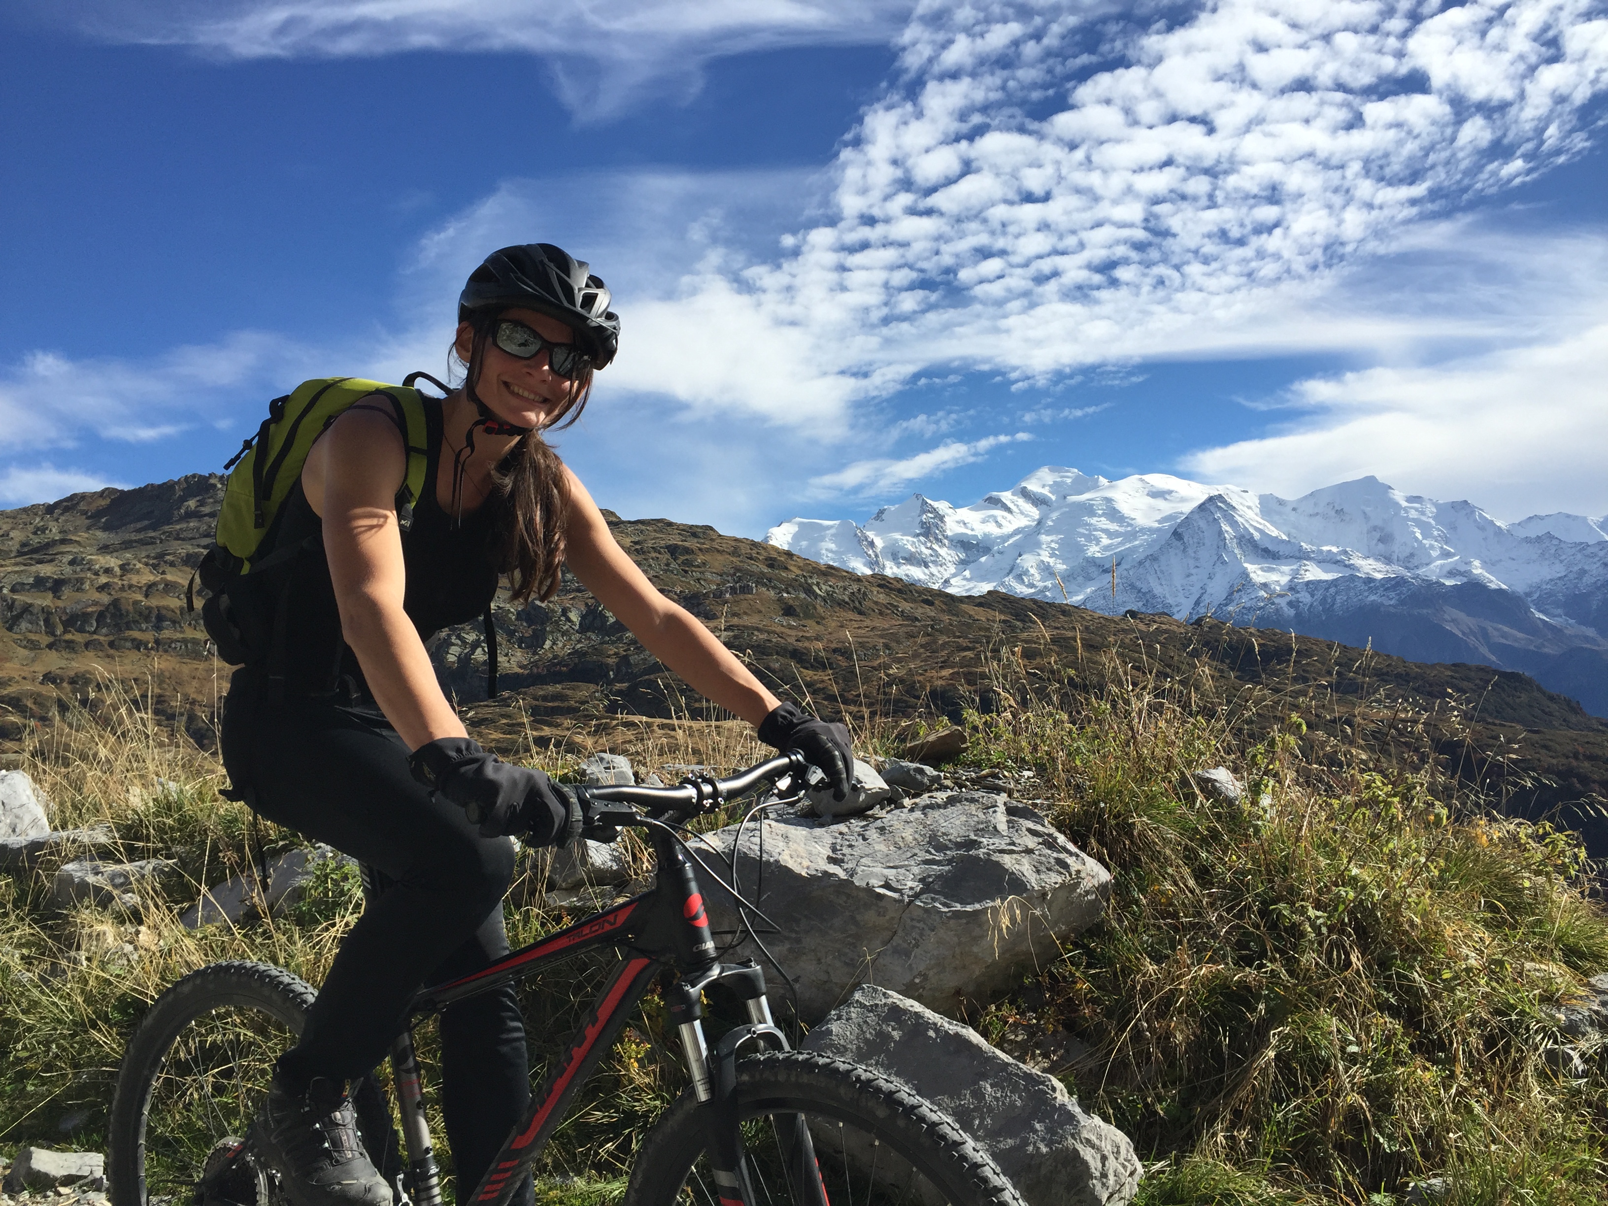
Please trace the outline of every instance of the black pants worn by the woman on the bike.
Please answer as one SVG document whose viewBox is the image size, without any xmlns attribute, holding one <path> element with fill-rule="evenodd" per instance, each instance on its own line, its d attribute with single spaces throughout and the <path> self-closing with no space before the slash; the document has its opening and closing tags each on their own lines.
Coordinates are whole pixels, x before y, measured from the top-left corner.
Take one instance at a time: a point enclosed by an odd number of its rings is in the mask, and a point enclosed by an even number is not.
<svg viewBox="0 0 1608 1206">
<path fill-rule="evenodd" d="M 502 897 L 515 846 L 481 838 L 461 809 L 413 781 L 407 746 L 371 701 L 270 703 L 241 671 L 222 738 L 230 777 L 259 814 L 392 881 L 341 942 L 301 1042 L 278 1063 L 297 1082 L 363 1076 L 386 1058 L 415 991 L 508 952 Z M 447 1008 L 441 1055 L 457 1196 L 468 1201 L 531 1097 L 513 986 Z"/>
</svg>

